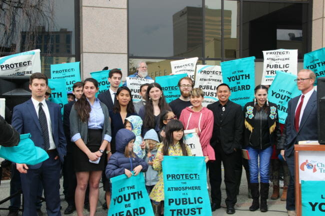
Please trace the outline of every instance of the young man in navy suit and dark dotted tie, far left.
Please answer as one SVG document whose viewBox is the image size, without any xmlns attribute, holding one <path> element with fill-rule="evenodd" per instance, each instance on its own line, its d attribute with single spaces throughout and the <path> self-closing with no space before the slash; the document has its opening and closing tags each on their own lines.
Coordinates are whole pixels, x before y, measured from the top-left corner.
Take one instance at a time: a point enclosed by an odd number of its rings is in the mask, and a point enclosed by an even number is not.
<svg viewBox="0 0 325 216">
<path fill-rule="evenodd" d="M 24 197 L 23 215 L 37 216 L 36 194 L 41 181 L 48 216 L 60 216 L 59 177 L 66 153 L 66 142 L 61 121 L 61 107 L 45 100 L 47 77 L 33 73 L 29 78 L 31 99 L 13 108 L 12 126 L 20 133 L 30 133 L 35 146 L 44 149 L 49 158 L 27 166 L 16 164 L 20 173 Z"/>
</svg>

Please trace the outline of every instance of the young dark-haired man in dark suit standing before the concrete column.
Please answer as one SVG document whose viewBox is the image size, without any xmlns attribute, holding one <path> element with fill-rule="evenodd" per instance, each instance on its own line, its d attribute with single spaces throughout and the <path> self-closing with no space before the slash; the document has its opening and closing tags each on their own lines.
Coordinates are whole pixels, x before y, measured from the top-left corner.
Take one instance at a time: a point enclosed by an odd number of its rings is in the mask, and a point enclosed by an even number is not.
<svg viewBox="0 0 325 216">
<path fill-rule="evenodd" d="M 116 97 L 116 91 L 122 79 L 122 72 L 119 69 L 111 69 L 108 73 L 109 89 L 98 94 L 97 98 L 104 103 L 108 110 L 112 110 L 114 106 L 114 100 Z"/>
</svg>

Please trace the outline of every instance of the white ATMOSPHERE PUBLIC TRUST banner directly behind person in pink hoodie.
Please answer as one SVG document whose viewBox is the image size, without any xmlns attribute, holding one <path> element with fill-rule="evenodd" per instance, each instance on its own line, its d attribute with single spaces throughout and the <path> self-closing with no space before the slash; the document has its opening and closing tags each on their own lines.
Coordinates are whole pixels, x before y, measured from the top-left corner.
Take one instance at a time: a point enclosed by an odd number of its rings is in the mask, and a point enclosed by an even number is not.
<svg viewBox="0 0 325 216">
<path fill-rule="evenodd" d="M 221 67 L 219 65 L 196 65 L 195 88 L 204 92 L 202 106 L 218 101 L 216 87 L 222 83 Z"/>
</svg>

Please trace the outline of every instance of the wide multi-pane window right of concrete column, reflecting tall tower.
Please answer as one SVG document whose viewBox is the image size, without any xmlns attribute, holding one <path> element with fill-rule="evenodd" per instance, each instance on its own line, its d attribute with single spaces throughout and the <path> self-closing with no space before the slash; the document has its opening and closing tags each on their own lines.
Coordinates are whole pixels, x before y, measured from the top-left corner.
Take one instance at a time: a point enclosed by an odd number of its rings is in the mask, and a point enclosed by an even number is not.
<svg viewBox="0 0 325 216">
<path fill-rule="evenodd" d="M 311 50 L 311 7 L 311 0 L 129 0 L 129 68 L 139 59 L 262 61 L 262 50 L 278 48 L 298 49 L 301 61 Z M 163 66 L 152 76 L 170 72 Z"/>
</svg>

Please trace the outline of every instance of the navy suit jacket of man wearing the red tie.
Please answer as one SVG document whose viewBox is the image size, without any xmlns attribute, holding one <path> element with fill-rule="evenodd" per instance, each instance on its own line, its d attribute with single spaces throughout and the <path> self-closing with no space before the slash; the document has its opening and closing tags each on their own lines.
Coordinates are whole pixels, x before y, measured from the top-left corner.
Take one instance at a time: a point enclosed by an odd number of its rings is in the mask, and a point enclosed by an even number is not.
<svg viewBox="0 0 325 216">
<path fill-rule="evenodd" d="M 288 115 L 285 120 L 286 137 L 284 142 L 285 157 L 293 154 L 293 145 L 303 140 L 318 140 L 317 129 L 317 93 L 313 91 L 303 110 L 298 132 L 294 128 L 295 108 L 300 95 L 292 98 L 288 103 Z M 281 149 L 281 147 L 280 147 Z"/>
</svg>

